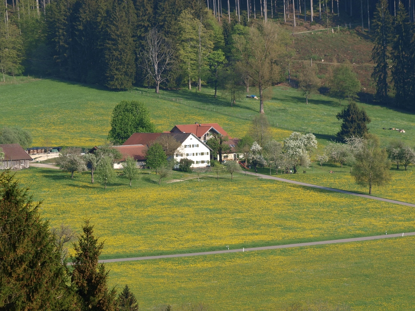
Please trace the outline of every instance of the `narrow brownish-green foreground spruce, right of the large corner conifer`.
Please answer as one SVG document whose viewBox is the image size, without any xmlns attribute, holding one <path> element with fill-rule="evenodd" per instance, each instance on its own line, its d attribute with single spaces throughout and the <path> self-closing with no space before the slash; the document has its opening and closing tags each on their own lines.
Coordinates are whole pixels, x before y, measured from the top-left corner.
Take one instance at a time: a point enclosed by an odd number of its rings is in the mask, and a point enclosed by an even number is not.
<svg viewBox="0 0 415 311">
<path fill-rule="evenodd" d="M 104 264 L 98 264 L 104 242 L 98 242 L 93 229 L 89 220 L 85 220 L 83 233 L 74 245 L 72 284 L 76 288 L 81 311 L 115 311 L 115 288 L 108 289 L 108 271 Z"/>
</svg>

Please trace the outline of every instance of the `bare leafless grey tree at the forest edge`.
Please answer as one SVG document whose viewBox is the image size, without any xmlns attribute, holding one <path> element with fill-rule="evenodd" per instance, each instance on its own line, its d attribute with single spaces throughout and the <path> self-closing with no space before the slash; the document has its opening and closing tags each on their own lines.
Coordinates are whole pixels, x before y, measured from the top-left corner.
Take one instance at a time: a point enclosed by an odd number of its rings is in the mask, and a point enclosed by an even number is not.
<svg viewBox="0 0 415 311">
<path fill-rule="evenodd" d="M 173 49 L 171 43 L 153 28 L 146 35 L 145 48 L 141 50 L 142 68 L 156 83 L 156 93 L 159 93 L 160 83 L 168 79 L 167 71 L 171 67 Z"/>
</svg>

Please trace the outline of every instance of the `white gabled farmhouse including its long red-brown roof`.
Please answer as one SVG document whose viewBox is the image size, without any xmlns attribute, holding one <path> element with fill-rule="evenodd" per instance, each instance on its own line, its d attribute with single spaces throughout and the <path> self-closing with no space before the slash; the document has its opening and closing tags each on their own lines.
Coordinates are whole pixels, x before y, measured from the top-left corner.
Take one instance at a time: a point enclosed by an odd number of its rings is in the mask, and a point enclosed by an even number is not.
<svg viewBox="0 0 415 311">
<path fill-rule="evenodd" d="M 172 136 L 181 146 L 174 153 L 174 158 L 180 161 L 188 158 L 193 161 L 192 168 L 206 167 L 210 163 L 210 149 L 193 133 L 134 133 L 122 146 L 144 145 L 147 148 L 160 136 Z"/>
</svg>

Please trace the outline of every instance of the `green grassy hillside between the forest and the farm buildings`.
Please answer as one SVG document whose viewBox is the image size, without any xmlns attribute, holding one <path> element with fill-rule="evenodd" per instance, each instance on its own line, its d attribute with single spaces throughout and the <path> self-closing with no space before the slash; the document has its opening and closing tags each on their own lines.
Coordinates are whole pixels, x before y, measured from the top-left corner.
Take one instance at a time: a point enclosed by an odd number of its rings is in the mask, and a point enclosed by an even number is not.
<svg viewBox="0 0 415 311">
<path fill-rule="evenodd" d="M 105 143 L 112 109 L 121 100 L 145 102 L 159 131 L 170 130 L 174 124 L 217 122 L 233 137 L 241 137 L 249 131 L 249 120 L 259 111 L 259 100 L 242 98 L 230 107 L 225 94 L 214 99 L 209 88 L 198 93 L 162 91 L 160 98 L 153 91 L 113 92 L 97 85 L 48 79 L 6 83 L 0 85 L 2 104 L 7 107 L 2 110 L 0 124 L 29 129 L 34 136 L 34 146 L 40 146 L 46 136 L 54 145 L 92 147 Z M 250 94 L 256 94 L 256 91 L 251 89 Z M 274 125 L 274 138 L 282 140 L 291 131 L 300 129 L 318 134 L 317 138 L 322 143 L 334 139 L 333 135 L 340 126 L 335 115 L 346 102 L 340 106 L 336 99 L 316 94 L 306 105 L 299 90 L 284 86 L 273 87 L 270 95 L 271 99 L 265 102 L 265 112 Z M 414 114 L 364 103 L 360 105 L 372 118 L 370 131 L 378 135 L 383 144 L 395 139 L 413 143 Z M 383 127 L 405 129 L 406 133 L 383 130 Z"/>
</svg>

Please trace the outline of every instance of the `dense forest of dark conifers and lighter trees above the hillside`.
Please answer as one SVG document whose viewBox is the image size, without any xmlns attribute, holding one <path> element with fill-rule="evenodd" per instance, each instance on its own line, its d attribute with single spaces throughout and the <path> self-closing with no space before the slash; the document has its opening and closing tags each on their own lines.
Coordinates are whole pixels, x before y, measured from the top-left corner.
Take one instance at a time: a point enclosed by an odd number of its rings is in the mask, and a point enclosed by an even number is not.
<svg viewBox="0 0 415 311">
<path fill-rule="evenodd" d="M 248 47 L 261 41 L 249 40 L 254 35 L 249 27 L 265 38 L 264 24 L 288 22 L 293 10 L 298 17 L 301 8 L 304 13 L 312 7 L 322 25 L 347 15 L 371 35 L 375 99 L 415 107 L 414 0 L 2 0 L 0 7 L 3 80 L 5 75 L 56 76 L 156 92 L 208 84 L 215 95 L 217 88 L 231 94 L 238 87 L 261 88 L 262 82 L 244 70 Z M 269 32 L 278 32 L 274 48 L 280 51 L 269 63 L 275 72 L 266 83 L 272 84 L 287 80 L 282 59 L 291 53 L 293 40 L 287 28 Z"/>
</svg>

